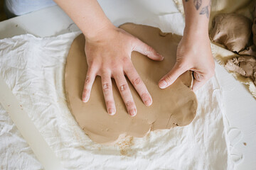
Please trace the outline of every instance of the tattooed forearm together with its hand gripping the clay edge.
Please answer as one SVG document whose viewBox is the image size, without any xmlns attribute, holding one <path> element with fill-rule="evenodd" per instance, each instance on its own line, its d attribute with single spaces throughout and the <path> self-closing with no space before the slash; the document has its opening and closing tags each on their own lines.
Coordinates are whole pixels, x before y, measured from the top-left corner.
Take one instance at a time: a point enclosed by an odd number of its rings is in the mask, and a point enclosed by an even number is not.
<svg viewBox="0 0 256 170">
<path fill-rule="evenodd" d="M 215 64 L 208 36 L 210 1 L 183 0 L 183 6 L 186 26 L 178 45 L 176 64 L 159 81 L 159 87 L 164 89 L 170 86 L 183 72 L 191 70 L 194 77 L 193 91 L 196 91 L 214 75 Z"/>
</svg>

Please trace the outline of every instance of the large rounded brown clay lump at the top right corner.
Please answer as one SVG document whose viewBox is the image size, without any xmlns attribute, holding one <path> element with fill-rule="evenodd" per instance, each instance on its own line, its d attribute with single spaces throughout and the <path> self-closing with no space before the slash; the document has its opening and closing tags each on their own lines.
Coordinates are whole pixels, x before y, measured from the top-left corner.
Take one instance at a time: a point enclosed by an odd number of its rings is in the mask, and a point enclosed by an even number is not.
<svg viewBox="0 0 256 170">
<path fill-rule="evenodd" d="M 220 14 L 213 20 L 210 39 L 228 50 L 240 52 L 247 47 L 252 35 L 252 22 L 236 13 Z"/>
</svg>

